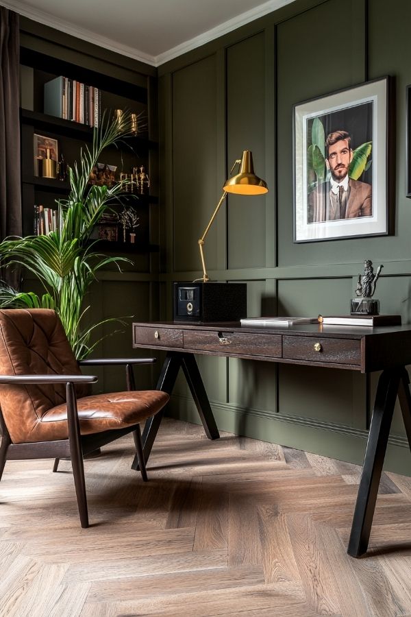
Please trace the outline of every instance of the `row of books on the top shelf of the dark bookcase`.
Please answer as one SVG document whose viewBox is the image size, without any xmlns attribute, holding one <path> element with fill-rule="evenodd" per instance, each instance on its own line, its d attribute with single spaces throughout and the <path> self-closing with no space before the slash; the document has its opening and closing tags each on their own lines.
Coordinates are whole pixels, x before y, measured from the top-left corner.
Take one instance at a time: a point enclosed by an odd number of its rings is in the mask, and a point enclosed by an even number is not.
<svg viewBox="0 0 411 617">
<path fill-rule="evenodd" d="M 68 77 L 55 77 L 44 86 L 45 114 L 73 120 L 88 126 L 98 126 L 101 90 Z"/>
</svg>

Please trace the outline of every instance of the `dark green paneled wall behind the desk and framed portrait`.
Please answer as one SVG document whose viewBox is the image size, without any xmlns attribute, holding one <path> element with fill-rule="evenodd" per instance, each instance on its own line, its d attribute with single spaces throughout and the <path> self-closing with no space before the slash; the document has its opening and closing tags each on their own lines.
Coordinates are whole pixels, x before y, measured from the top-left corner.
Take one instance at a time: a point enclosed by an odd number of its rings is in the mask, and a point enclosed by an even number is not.
<svg viewBox="0 0 411 617">
<path fill-rule="evenodd" d="M 345 313 L 364 258 L 384 263 L 382 309 L 410 321 L 411 201 L 405 197 L 411 3 L 296 0 L 160 66 L 164 252 L 160 278 L 201 274 L 197 239 L 232 162 L 253 151 L 265 197 L 229 197 L 206 240 L 215 280 L 245 280 L 249 315 Z M 395 233 L 292 241 L 292 106 L 384 75 L 395 77 Z M 173 256 L 173 259 L 170 258 Z M 164 296 L 163 296 L 164 298 Z M 170 304 L 168 302 L 168 315 Z M 165 315 L 164 315 L 165 316 Z M 199 357 L 220 428 L 360 462 L 376 376 Z M 173 412 L 198 421 L 184 380 Z M 387 466 L 411 473 L 396 414 Z"/>
</svg>

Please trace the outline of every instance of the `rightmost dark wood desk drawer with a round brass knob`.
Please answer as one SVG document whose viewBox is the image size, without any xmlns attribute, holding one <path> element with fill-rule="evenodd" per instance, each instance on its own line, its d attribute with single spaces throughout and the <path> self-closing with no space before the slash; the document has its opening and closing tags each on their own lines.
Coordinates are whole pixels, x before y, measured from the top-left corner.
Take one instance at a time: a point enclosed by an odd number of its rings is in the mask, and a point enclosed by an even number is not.
<svg viewBox="0 0 411 617">
<path fill-rule="evenodd" d="M 319 363 L 361 364 L 361 343 L 349 339 L 283 337 L 283 358 Z"/>
</svg>

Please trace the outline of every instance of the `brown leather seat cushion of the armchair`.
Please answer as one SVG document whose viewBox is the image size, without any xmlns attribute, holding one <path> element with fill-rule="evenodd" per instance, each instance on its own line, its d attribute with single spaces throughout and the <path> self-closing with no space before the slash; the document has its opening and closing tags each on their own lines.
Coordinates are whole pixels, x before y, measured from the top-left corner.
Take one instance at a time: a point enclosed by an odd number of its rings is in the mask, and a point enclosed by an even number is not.
<svg viewBox="0 0 411 617">
<path fill-rule="evenodd" d="M 127 428 L 154 415 L 169 401 L 160 390 L 139 390 L 84 396 L 77 400 L 82 435 L 112 428 Z M 27 441 L 52 441 L 69 437 L 66 404 L 51 407 L 36 423 Z"/>
</svg>

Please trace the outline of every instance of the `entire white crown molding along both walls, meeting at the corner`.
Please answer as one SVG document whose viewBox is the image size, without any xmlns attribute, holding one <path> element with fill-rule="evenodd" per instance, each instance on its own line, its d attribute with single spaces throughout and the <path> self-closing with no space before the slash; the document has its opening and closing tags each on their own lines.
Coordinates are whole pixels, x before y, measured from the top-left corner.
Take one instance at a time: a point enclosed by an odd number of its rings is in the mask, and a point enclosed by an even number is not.
<svg viewBox="0 0 411 617">
<path fill-rule="evenodd" d="M 160 53 L 158 56 L 151 56 L 149 53 L 134 49 L 134 47 L 122 45 L 118 41 L 105 38 L 105 36 L 100 36 L 95 32 L 91 32 L 90 30 L 74 25 L 73 23 L 66 22 L 49 13 L 29 7 L 22 0 L 1 0 L 0 5 L 5 6 L 5 8 L 13 10 L 20 15 L 28 17 L 33 21 L 38 21 L 44 25 L 55 28 L 60 32 L 66 32 L 76 38 L 87 40 L 88 43 L 93 43 L 94 45 L 99 45 L 99 47 L 110 49 L 110 51 L 121 53 L 123 56 L 133 58 L 134 60 L 139 60 L 140 62 L 145 62 L 151 66 L 160 66 L 160 64 L 164 64 L 164 62 L 173 60 L 173 58 L 177 58 L 177 56 L 182 56 L 183 53 L 187 53 L 188 51 L 191 51 L 196 47 L 200 47 L 205 43 L 210 43 L 210 40 L 223 36 L 223 34 L 227 34 L 227 32 L 232 32 L 232 30 L 235 30 L 236 28 L 251 21 L 255 21 L 259 17 L 271 13 L 293 1 L 294 0 L 269 0 L 268 2 L 264 2 L 264 4 L 260 4 L 245 13 L 237 15 L 236 17 L 233 17 L 233 19 L 229 19 L 228 21 L 221 23 L 207 32 L 199 34 L 199 36 L 186 40 L 184 43 L 181 43 L 181 45 L 177 45 L 168 51 L 164 51 L 164 53 Z"/>
</svg>

